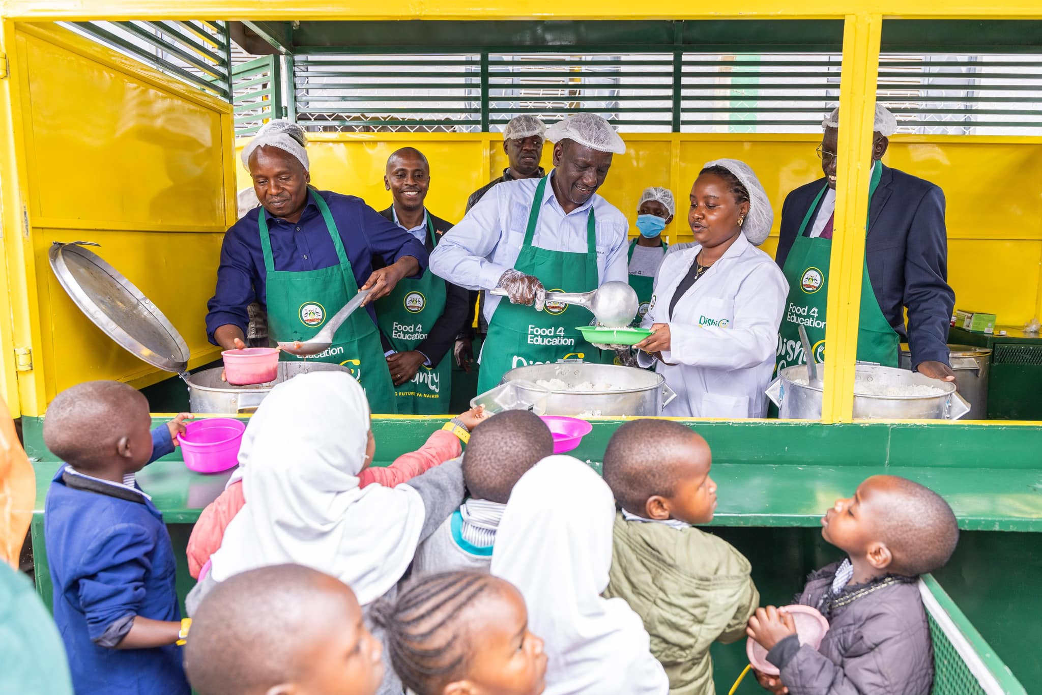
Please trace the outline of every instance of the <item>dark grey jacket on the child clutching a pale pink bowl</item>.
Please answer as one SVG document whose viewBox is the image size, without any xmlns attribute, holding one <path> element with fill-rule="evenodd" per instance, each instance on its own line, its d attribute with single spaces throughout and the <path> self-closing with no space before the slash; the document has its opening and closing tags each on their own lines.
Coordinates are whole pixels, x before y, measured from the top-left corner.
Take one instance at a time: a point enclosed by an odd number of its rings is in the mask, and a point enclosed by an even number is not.
<svg viewBox="0 0 1042 695">
<path fill-rule="evenodd" d="M 812 574 L 797 599 L 828 619 L 821 647 L 800 646 L 793 636 L 767 654 L 790 695 L 929 695 L 934 653 L 916 578 L 880 578 L 829 596 L 838 567 Z"/>
</svg>

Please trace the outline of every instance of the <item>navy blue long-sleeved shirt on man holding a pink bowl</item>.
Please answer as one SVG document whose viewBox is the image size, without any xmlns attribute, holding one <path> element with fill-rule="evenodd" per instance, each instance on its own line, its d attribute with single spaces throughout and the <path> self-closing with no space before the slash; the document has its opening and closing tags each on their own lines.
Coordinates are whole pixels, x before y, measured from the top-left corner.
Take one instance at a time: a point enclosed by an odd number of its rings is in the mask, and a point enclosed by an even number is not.
<svg viewBox="0 0 1042 695">
<path fill-rule="evenodd" d="M 322 196 L 329 206 L 329 213 L 344 243 L 347 259 L 351 262 L 354 281 L 359 288 L 373 272 L 373 258 L 381 258 L 383 265 L 390 266 L 398 258 L 411 255 L 420 262 L 420 272 L 413 277 L 423 275 L 427 267 L 427 249 L 416 237 L 384 219 L 362 198 L 343 196 L 331 191 L 312 190 L 311 193 Z M 231 225 L 221 244 L 217 291 L 206 304 L 209 309 L 206 315 L 206 337 L 214 345 L 217 345 L 214 331 L 225 324 L 239 326 L 246 332 L 249 323 L 246 307 L 254 299 L 267 306 L 265 279 L 268 273 L 260 250 L 260 215 L 268 221 L 275 270 L 301 272 L 340 264 L 322 213 L 311 197 L 296 224 L 272 216 L 264 207 L 251 209 Z M 376 323 L 373 305 L 368 304 L 366 309 L 373 323 Z"/>
</svg>

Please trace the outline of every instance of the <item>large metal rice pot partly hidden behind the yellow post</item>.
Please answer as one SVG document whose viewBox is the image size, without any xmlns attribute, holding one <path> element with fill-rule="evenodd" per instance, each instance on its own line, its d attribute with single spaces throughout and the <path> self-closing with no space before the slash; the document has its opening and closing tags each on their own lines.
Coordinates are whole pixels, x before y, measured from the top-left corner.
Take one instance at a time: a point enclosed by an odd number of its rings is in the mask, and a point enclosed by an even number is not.
<svg viewBox="0 0 1042 695">
<path fill-rule="evenodd" d="M 819 367 L 819 369 L 821 369 Z M 770 387 L 767 397 L 783 418 L 821 419 L 822 390 L 807 383 L 807 365 L 786 367 Z M 868 383 L 883 387 L 926 386 L 936 395 L 869 395 Z M 860 391 L 860 393 L 859 393 Z M 864 420 L 958 420 L 970 409 L 956 393 L 956 384 L 893 367 L 858 365 L 854 368 L 853 417 Z"/>
</svg>

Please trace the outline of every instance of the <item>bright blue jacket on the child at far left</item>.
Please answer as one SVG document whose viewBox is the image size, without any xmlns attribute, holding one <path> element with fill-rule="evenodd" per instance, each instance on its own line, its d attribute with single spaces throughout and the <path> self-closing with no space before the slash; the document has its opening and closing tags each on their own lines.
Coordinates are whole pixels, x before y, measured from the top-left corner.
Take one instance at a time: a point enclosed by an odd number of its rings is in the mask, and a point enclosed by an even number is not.
<svg viewBox="0 0 1042 695">
<path fill-rule="evenodd" d="M 152 430 L 152 461 L 174 450 L 167 425 Z M 130 490 L 71 471 L 67 475 L 66 468 L 58 469 L 47 491 L 44 539 L 54 622 L 76 695 L 189 695 L 181 647 L 98 644 L 114 623 L 131 616 L 180 620 L 174 548 L 163 515 L 137 483 Z M 92 489 L 67 479 L 85 480 Z"/>
</svg>

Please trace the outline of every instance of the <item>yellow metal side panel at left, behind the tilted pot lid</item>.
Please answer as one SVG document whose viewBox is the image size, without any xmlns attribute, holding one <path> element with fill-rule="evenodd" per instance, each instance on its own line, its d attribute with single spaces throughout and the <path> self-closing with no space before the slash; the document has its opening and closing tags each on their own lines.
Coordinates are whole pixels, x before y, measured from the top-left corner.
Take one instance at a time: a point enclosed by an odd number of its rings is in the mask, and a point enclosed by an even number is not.
<svg viewBox="0 0 1042 695">
<path fill-rule="evenodd" d="M 52 25 L 19 25 L 5 38 L 16 49 L 9 103 L 28 224 L 21 255 L 6 256 L 20 295 L 15 340 L 33 351 L 32 371 L 19 373 L 22 413 L 42 414 L 88 379 L 143 387 L 170 376 L 73 304 L 47 260 L 55 241 L 101 244 L 95 251 L 183 336 L 191 364 L 212 361 L 203 318 L 235 218 L 230 106 Z M 4 222 L 9 239 L 17 227 Z"/>
</svg>

